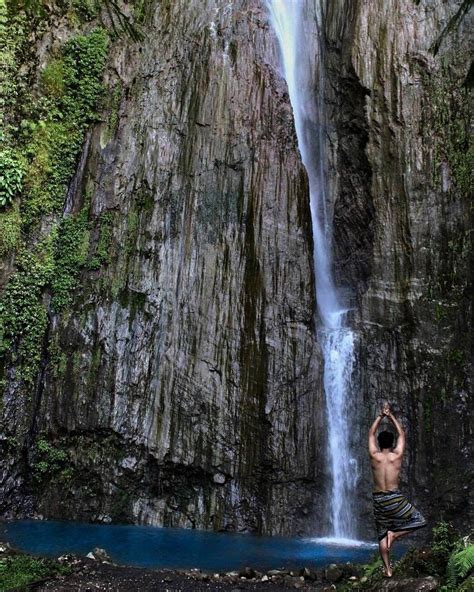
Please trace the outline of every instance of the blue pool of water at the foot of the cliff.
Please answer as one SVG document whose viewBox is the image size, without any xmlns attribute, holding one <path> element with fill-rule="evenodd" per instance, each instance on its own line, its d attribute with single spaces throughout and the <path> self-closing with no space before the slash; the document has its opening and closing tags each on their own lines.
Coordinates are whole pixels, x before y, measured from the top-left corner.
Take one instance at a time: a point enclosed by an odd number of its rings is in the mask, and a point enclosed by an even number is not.
<svg viewBox="0 0 474 592">
<path fill-rule="evenodd" d="M 334 544 L 328 539 L 37 520 L 0 524 L 0 540 L 43 556 L 86 555 L 94 547 L 102 547 L 119 564 L 216 571 L 364 562 L 377 551 L 375 545 L 362 542 Z"/>
</svg>

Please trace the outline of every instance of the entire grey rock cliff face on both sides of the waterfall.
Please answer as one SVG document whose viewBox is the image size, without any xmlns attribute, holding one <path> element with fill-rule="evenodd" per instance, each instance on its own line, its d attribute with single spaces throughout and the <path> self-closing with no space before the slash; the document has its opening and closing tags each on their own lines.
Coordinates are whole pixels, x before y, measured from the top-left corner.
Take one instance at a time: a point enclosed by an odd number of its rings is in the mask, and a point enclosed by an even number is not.
<svg viewBox="0 0 474 592">
<path fill-rule="evenodd" d="M 361 534 L 383 399 L 404 418 L 415 501 L 472 520 L 468 4 L 325 9 Z M 42 284 L 34 381 L 16 369 L 24 336 L 3 354 L 2 511 L 313 534 L 327 476 L 308 188 L 265 5 L 141 6 L 143 40 L 109 49 L 108 98 L 62 211 L 28 227 L 40 244 L 57 221 L 82 224 L 82 258 L 65 306 L 60 282 Z M 58 17 L 36 33 L 33 85 L 70 27 Z M 8 295 L 21 261 L 4 259 Z"/>
</svg>

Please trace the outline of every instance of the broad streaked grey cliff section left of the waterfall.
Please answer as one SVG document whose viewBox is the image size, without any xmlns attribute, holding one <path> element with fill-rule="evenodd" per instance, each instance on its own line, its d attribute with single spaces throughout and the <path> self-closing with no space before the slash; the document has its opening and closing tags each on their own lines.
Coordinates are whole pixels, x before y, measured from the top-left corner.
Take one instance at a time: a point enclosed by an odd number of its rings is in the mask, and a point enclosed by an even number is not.
<svg viewBox="0 0 474 592">
<path fill-rule="evenodd" d="M 102 220 L 89 260 L 106 221 L 106 253 L 50 310 L 34 403 L 6 389 L 32 476 L 57 450 L 71 463 L 39 483 L 19 466 L 19 507 L 30 493 L 45 516 L 309 532 L 324 433 L 311 227 L 275 39 L 258 2 L 149 15 L 142 42 L 111 49 L 114 122 L 90 130 L 65 206 Z"/>
</svg>

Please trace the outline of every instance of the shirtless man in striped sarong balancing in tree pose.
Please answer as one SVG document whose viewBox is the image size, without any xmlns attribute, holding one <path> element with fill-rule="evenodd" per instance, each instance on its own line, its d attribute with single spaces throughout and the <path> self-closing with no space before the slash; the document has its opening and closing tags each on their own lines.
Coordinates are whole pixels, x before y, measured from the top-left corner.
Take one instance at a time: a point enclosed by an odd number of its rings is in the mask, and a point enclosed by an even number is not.
<svg viewBox="0 0 474 592">
<path fill-rule="evenodd" d="M 397 445 L 393 447 L 392 432 L 375 434 L 380 422 L 388 417 L 397 430 Z M 378 446 L 377 446 L 378 441 Z M 379 450 L 380 448 L 380 450 Z M 393 542 L 410 534 L 417 528 L 426 526 L 421 513 L 400 493 L 398 480 L 405 451 L 405 432 L 395 419 L 389 405 L 385 405 L 382 413 L 376 418 L 369 430 L 369 454 L 374 477 L 374 517 L 379 539 L 380 556 L 384 564 L 385 577 L 392 577 L 390 549 Z"/>
</svg>

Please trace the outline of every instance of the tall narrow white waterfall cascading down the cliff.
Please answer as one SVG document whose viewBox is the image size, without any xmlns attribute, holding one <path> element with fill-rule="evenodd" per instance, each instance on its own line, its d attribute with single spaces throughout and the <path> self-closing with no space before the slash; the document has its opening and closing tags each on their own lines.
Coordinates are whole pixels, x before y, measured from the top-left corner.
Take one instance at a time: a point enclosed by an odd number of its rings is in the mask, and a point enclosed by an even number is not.
<svg viewBox="0 0 474 592">
<path fill-rule="evenodd" d="M 347 308 L 341 303 L 332 273 L 332 211 L 326 196 L 324 158 L 322 2 L 267 0 L 293 107 L 298 147 L 309 179 L 316 300 L 321 321 L 318 340 L 324 359 L 332 479 L 331 534 L 351 539 L 355 535 L 351 500 L 358 478 L 348 445 L 354 334 L 345 326 Z"/>
</svg>

